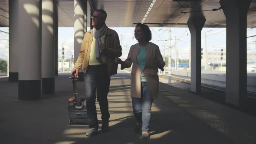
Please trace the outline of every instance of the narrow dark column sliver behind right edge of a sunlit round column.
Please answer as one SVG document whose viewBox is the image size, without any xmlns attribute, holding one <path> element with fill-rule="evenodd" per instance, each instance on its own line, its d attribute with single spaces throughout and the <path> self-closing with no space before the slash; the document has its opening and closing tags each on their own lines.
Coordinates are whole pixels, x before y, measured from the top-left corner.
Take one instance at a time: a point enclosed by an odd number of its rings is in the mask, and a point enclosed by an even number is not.
<svg viewBox="0 0 256 144">
<path fill-rule="evenodd" d="M 58 16 L 58 0 L 54 0 L 54 45 L 55 45 L 55 75 L 58 75 L 58 38 L 59 38 L 59 16 Z"/>
</svg>

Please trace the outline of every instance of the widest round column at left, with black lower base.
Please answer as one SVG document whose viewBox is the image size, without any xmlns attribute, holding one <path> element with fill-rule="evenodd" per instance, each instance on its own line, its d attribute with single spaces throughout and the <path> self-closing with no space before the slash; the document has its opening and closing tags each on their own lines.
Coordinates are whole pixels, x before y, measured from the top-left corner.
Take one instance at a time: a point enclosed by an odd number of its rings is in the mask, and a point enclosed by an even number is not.
<svg viewBox="0 0 256 144">
<path fill-rule="evenodd" d="M 19 98 L 42 97 L 42 0 L 18 0 Z M 22 26 L 22 27 L 21 27 Z"/>
</svg>

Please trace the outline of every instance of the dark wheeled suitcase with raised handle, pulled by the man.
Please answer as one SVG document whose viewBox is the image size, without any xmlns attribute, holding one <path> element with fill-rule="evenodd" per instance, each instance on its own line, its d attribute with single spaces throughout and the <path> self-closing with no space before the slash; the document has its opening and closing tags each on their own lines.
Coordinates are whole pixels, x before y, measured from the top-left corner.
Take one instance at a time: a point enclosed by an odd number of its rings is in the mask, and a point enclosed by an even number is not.
<svg viewBox="0 0 256 144">
<path fill-rule="evenodd" d="M 78 96 L 75 77 L 70 77 L 73 83 L 74 97 L 69 98 L 69 125 L 82 124 L 89 125 L 87 119 L 86 100 Z M 78 101 L 78 102 L 77 102 Z"/>
</svg>

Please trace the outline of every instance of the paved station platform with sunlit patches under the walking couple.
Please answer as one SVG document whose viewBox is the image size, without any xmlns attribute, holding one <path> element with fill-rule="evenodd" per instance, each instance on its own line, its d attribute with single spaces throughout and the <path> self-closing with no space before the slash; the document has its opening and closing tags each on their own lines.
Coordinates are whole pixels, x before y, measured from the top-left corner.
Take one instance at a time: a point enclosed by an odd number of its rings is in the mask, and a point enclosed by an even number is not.
<svg viewBox="0 0 256 144">
<path fill-rule="evenodd" d="M 256 117 L 202 95 L 161 83 L 152 105 L 150 139 L 135 134 L 130 74 L 112 76 L 108 94 L 110 130 L 86 137 L 87 125 L 69 125 L 67 101 L 73 96 L 68 73 L 56 77 L 56 94 L 18 100 L 18 83 L 0 78 L 1 144 L 256 144 Z M 85 90 L 77 82 L 79 95 Z M 212 94 L 214 95 L 214 94 Z M 101 117 L 97 103 L 98 118 Z"/>
</svg>

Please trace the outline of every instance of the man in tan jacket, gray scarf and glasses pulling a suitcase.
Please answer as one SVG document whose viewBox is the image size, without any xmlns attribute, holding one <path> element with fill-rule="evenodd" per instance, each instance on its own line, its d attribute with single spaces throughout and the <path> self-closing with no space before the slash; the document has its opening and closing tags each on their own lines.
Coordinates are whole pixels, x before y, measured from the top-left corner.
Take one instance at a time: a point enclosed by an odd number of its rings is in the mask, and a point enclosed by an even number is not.
<svg viewBox="0 0 256 144">
<path fill-rule="evenodd" d="M 95 105 L 96 89 L 97 101 L 102 114 L 102 131 L 108 131 L 108 92 L 110 76 L 117 73 L 118 65 L 115 58 L 120 57 L 121 46 L 118 34 L 109 29 L 105 20 L 105 10 L 96 10 L 92 15 L 93 29 L 85 33 L 72 76 L 78 78 L 78 71 L 82 69 L 85 79 L 85 98 L 90 131 L 86 136 L 98 133 L 98 118 Z"/>
</svg>

